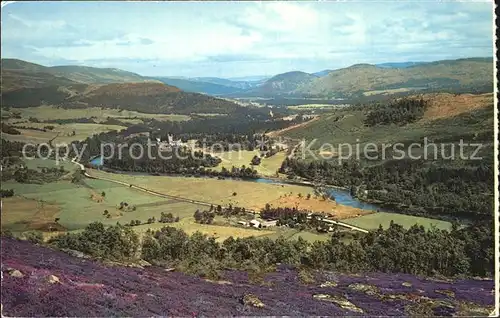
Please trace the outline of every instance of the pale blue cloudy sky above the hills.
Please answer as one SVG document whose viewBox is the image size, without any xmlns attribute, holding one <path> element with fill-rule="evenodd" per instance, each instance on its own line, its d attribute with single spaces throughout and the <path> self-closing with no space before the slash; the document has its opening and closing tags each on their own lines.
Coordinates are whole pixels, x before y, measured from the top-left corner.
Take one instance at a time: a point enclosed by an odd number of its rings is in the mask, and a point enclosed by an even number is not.
<svg viewBox="0 0 500 318">
<path fill-rule="evenodd" d="M 13 2 L 1 55 L 243 77 L 493 56 L 492 2 Z"/>
</svg>

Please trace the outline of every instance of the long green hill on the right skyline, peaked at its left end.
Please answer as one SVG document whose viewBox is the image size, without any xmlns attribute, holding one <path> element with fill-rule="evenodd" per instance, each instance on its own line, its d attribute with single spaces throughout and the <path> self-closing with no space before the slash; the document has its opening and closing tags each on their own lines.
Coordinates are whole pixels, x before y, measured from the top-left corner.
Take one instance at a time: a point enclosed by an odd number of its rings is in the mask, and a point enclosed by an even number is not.
<svg viewBox="0 0 500 318">
<path fill-rule="evenodd" d="M 470 58 L 417 64 L 406 68 L 383 68 L 357 64 L 334 70 L 292 93 L 314 96 L 384 94 L 396 90 L 474 89 L 493 91 L 493 59 Z M 384 92 L 385 91 L 385 92 Z"/>
</svg>

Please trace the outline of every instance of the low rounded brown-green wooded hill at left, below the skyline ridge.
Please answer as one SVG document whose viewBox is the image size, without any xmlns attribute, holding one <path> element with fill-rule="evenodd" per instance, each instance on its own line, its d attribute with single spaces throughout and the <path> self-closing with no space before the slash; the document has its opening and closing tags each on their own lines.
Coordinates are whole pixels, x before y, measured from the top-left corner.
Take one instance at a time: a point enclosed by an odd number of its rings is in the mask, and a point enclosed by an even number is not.
<svg viewBox="0 0 500 318">
<path fill-rule="evenodd" d="M 227 114 L 240 108 L 227 100 L 182 92 L 177 87 L 161 83 L 76 84 L 65 87 L 25 88 L 3 93 L 2 103 L 9 107 L 107 107 L 162 114 Z"/>
</svg>

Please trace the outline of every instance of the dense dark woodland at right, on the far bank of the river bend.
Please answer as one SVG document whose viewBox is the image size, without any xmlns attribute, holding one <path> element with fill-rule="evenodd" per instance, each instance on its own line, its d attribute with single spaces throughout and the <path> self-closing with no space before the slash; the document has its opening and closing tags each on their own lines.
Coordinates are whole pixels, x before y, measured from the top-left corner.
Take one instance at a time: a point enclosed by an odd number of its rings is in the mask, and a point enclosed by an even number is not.
<svg viewBox="0 0 500 318">
<path fill-rule="evenodd" d="M 457 167 L 423 160 L 390 160 L 361 166 L 357 161 L 342 164 L 286 159 L 280 171 L 326 184 L 355 187 L 361 199 L 398 211 L 421 215 L 489 218 L 493 211 L 493 165 Z"/>
</svg>

